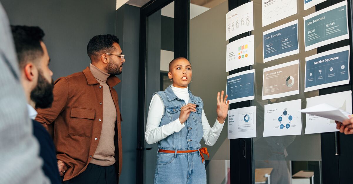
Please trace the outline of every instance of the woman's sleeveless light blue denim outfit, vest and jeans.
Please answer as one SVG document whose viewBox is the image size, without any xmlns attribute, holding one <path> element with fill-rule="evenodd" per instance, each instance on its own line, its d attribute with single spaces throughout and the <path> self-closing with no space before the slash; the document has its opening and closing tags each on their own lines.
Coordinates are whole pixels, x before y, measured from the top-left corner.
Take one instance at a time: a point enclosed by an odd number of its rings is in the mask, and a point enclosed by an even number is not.
<svg viewBox="0 0 353 184">
<path fill-rule="evenodd" d="M 164 104 L 164 114 L 160 127 L 174 120 L 180 115 L 180 108 L 185 101 L 179 99 L 169 86 L 164 91 L 155 93 L 159 95 Z M 168 137 L 158 141 L 158 149 L 173 150 L 175 153 L 157 153 L 155 184 L 205 184 L 205 162 L 202 163 L 199 151 L 192 153 L 177 153 L 178 150 L 198 150 L 203 137 L 202 109 L 203 102 L 200 97 L 193 96 L 189 90 L 189 103 L 198 104 L 197 112 L 191 112 L 184 122 L 185 127 Z"/>
</svg>

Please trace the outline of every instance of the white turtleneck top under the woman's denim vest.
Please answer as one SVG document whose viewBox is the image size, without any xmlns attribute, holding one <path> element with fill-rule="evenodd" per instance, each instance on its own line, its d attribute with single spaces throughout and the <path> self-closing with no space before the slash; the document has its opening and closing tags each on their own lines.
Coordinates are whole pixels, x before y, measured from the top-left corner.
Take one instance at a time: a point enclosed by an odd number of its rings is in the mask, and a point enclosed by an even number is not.
<svg viewBox="0 0 353 184">
<path fill-rule="evenodd" d="M 172 90 L 179 99 L 183 99 L 186 104 L 189 103 L 189 88 L 177 88 L 172 85 Z M 163 113 L 163 101 L 159 95 L 155 94 L 152 97 L 147 116 L 145 140 L 148 144 L 154 144 L 174 132 L 179 132 L 183 127 L 185 127 L 184 123 L 180 123 L 179 118 L 159 127 Z M 206 118 L 206 114 L 202 109 L 203 139 L 206 145 L 213 146 L 216 143 L 219 135 L 221 134 L 223 125 L 224 123 L 219 123 L 216 119 L 215 124 L 211 128 Z"/>
</svg>

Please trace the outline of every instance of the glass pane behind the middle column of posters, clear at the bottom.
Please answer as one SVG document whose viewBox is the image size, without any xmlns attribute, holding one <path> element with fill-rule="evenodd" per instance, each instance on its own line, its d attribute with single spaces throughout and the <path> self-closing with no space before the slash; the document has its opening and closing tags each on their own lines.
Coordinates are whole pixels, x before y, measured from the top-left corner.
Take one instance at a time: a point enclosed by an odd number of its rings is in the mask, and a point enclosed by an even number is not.
<svg viewBox="0 0 353 184">
<path fill-rule="evenodd" d="M 306 107 L 306 98 L 318 96 L 318 90 L 304 93 L 304 73 L 305 57 L 317 53 L 316 49 L 304 51 L 304 22 L 303 17 L 315 12 L 315 7 L 304 11 L 303 1 L 298 1 L 298 13 L 288 18 L 277 21 L 273 24 L 262 27 L 262 9 L 261 0 L 254 0 L 254 31 L 255 35 L 255 100 L 252 105 L 256 106 L 257 111 L 257 137 L 253 138 L 253 159 L 254 169 L 272 168 L 270 174 L 271 184 L 290 184 L 292 175 L 301 170 L 310 170 L 314 172 L 314 183 L 321 183 L 321 138 L 320 134 L 306 134 L 305 115 L 301 116 L 302 135 L 262 137 L 264 130 L 264 105 L 301 99 L 301 107 Z M 263 62 L 262 35 L 264 31 L 283 25 L 293 20 L 298 23 L 298 42 L 299 54 L 283 57 Z M 277 99 L 262 100 L 262 80 L 263 69 L 277 64 L 282 64 L 299 59 L 299 94 Z M 257 174 L 257 172 L 255 172 Z"/>
</svg>

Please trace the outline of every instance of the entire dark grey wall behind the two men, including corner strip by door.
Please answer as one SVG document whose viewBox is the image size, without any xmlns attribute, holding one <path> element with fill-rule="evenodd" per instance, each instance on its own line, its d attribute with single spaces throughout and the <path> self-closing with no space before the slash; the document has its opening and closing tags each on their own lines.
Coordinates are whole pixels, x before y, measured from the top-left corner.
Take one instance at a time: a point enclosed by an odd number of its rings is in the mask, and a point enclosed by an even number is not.
<svg viewBox="0 0 353 184">
<path fill-rule="evenodd" d="M 49 68 L 54 80 L 82 71 L 90 60 L 89 40 L 98 34 L 115 34 L 126 62 L 119 95 L 123 165 L 120 183 L 136 183 L 137 85 L 139 50 L 139 8 L 124 5 L 115 10 L 116 0 L 1 0 L 13 25 L 40 26 L 51 58 Z"/>
</svg>

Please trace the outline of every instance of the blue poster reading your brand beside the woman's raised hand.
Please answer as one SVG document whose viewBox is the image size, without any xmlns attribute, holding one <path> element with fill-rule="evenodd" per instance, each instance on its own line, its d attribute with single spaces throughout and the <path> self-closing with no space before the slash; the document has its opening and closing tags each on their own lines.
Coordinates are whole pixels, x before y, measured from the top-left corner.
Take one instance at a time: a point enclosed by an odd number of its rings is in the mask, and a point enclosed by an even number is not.
<svg viewBox="0 0 353 184">
<path fill-rule="evenodd" d="M 227 77 L 229 103 L 254 100 L 255 69 L 242 71 Z"/>
</svg>

